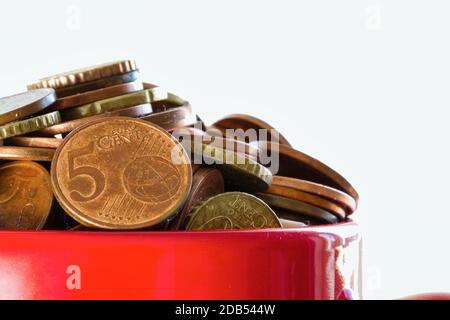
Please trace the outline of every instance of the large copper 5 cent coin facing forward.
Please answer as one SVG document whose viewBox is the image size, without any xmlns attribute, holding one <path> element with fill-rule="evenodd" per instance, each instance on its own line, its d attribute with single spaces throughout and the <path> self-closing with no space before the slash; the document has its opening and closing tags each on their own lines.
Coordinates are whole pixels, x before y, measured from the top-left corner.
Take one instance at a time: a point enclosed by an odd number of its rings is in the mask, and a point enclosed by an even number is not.
<svg viewBox="0 0 450 320">
<path fill-rule="evenodd" d="M 55 196 L 75 220 L 103 229 L 140 229 L 176 214 L 191 187 L 183 147 L 142 120 L 99 119 L 74 130 L 51 168 Z"/>
</svg>

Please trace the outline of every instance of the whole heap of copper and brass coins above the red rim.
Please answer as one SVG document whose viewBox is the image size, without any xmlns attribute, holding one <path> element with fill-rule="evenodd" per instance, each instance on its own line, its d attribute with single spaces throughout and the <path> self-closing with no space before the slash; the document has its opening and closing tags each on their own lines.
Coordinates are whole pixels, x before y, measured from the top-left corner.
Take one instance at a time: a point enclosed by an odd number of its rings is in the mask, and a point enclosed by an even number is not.
<svg viewBox="0 0 450 320">
<path fill-rule="evenodd" d="M 304 228 L 357 208 L 345 178 L 266 122 L 206 126 L 132 60 L 1 98 L 0 139 L 0 229 Z"/>
</svg>

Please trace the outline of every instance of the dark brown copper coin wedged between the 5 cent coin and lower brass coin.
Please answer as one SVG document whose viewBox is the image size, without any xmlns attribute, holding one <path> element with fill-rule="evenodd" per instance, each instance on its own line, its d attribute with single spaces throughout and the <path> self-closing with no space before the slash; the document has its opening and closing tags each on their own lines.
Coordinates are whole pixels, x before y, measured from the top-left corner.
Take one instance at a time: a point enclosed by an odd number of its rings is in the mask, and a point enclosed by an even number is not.
<svg viewBox="0 0 450 320">
<path fill-rule="evenodd" d="M 225 182 L 218 169 L 203 167 L 194 174 L 192 189 L 183 210 L 170 223 L 171 230 L 184 230 L 193 209 L 203 201 L 225 192 Z"/>
</svg>

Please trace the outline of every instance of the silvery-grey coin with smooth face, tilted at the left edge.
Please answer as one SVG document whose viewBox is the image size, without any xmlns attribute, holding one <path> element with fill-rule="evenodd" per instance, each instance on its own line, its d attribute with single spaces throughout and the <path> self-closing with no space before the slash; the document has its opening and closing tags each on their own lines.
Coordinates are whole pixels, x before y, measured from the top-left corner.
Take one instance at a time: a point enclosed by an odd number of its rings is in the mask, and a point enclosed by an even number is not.
<svg viewBox="0 0 450 320">
<path fill-rule="evenodd" d="M 0 124 L 21 120 L 56 101 L 53 89 L 39 89 L 0 99 Z"/>
</svg>

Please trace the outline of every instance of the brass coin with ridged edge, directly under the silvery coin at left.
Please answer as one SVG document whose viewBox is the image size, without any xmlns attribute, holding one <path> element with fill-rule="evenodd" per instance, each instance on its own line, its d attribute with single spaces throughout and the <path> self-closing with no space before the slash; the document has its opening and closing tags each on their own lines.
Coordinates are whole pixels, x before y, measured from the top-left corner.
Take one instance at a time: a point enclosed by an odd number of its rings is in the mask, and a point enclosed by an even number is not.
<svg viewBox="0 0 450 320">
<path fill-rule="evenodd" d="M 0 139 L 21 136 L 38 131 L 61 122 L 59 111 L 50 112 L 41 116 L 10 122 L 0 126 Z"/>
</svg>

